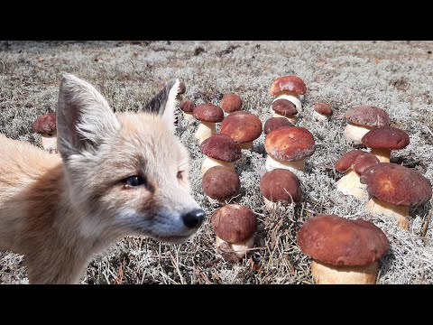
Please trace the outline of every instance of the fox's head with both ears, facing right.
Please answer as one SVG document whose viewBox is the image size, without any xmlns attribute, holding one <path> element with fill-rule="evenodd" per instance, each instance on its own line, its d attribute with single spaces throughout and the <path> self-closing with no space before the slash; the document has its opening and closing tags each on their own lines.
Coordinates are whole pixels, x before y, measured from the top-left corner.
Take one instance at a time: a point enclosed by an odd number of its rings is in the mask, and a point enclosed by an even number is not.
<svg viewBox="0 0 433 325">
<path fill-rule="evenodd" d="M 189 193 L 189 155 L 174 135 L 179 79 L 138 113 L 113 112 L 88 82 L 64 74 L 58 150 L 83 236 L 144 235 L 181 243 L 205 212 Z"/>
</svg>

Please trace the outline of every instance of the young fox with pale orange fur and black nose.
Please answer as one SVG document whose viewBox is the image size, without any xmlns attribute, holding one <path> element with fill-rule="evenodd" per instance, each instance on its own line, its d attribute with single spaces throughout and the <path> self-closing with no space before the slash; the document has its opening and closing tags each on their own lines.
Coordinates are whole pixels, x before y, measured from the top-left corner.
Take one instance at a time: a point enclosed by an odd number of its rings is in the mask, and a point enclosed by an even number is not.
<svg viewBox="0 0 433 325">
<path fill-rule="evenodd" d="M 114 112 L 88 81 L 63 73 L 57 150 L 0 135 L 0 250 L 23 255 L 29 283 L 78 283 L 126 236 L 189 240 L 206 213 L 191 195 L 175 135 L 180 79 L 138 112 Z"/>
</svg>

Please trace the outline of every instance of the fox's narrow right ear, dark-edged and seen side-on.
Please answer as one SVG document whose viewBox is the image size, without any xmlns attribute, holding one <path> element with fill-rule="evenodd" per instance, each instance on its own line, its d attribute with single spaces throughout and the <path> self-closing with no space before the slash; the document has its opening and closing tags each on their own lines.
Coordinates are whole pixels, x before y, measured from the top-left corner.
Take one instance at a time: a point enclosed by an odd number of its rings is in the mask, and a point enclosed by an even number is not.
<svg viewBox="0 0 433 325">
<path fill-rule="evenodd" d="M 174 133 L 174 110 L 176 108 L 176 96 L 179 92 L 179 79 L 168 82 L 164 88 L 147 104 L 143 111 L 158 114 L 166 122 L 167 126 Z"/>
</svg>

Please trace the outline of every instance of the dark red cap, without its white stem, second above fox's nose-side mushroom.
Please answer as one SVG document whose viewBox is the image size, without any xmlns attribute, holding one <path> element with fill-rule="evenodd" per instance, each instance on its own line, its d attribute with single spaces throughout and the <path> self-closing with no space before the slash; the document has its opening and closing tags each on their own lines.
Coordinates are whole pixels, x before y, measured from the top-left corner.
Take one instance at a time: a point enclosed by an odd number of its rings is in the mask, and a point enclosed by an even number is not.
<svg viewBox="0 0 433 325">
<path fill-rule="evenodd" d="M 242 157 L 242 151 L 227 135 L 211 135 L 200 144 L 200 150 L 207 157 L 233 163 Z"/>
</svg>

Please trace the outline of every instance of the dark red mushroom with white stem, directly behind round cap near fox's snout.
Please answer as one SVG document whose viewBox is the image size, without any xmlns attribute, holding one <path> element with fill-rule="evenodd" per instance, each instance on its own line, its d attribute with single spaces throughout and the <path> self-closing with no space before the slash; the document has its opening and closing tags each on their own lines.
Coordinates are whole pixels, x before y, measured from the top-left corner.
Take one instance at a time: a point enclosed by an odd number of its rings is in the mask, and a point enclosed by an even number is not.
<svg viewBox="0 0 433 325">
<path fill-rule="evenodd" d="M 200 144 L 200 150 L 206 154 L 201 166 L 201 173 L 204 174 L 213 166 L 224 166 L 235 171 L 235 162 L 241 159 L 242 151 L 235 141 L 228 135 L 212 135 Z"/>
</svg>

